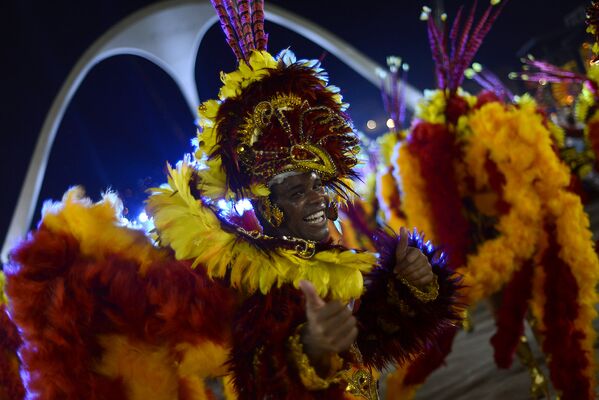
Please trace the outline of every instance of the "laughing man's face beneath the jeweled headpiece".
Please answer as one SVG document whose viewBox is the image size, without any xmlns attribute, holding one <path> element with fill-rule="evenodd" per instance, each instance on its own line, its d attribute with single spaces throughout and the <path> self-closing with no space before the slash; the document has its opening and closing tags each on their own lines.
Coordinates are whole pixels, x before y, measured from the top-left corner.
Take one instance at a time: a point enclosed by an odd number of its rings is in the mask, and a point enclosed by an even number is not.
<svg viewBox="0 0 599 400">
<path fill-rule="evenodd" d="M 271 186 L 273 203 L 283 211 L 283 222 L 277 228 L 281 235 L 322 241 L 329 236 L 325 215 L 324 186 L 314 172 L 285 178 Z"/>
</svg>

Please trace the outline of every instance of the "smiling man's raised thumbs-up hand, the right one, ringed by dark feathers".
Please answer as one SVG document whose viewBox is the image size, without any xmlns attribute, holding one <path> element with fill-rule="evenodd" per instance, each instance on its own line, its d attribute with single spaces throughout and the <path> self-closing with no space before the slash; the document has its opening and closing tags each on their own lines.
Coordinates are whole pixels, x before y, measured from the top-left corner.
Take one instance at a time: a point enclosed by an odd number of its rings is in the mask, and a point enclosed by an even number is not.
<svg viewBox="0 0 599 400">
<path fill-rule="evenodd" d="M 408 230 L 399 231 L 399 243 L 395 250 L 395 268 L 398 277 L 405 278 L 411 285 L 423 288 L 433 281 L 433 269 L 428 258 L 417 248 L 408 246 Z"/>
</svg>

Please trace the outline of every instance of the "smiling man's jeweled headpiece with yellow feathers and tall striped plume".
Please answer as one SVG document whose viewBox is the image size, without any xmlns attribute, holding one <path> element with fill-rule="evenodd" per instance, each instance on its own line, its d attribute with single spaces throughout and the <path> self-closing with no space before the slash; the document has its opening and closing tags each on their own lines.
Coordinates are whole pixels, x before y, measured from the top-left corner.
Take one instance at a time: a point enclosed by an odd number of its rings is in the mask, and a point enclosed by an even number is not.
<svg viewBox="0 0 599 400">
<path fill-rule="evenodd" d="M 317 172 L 345 194 L 358 139 L 339 89 L 317 60 L 266 51 L 262 1 L 212 0 L 239 68 L 223 73 L 218 100 L 199 107 L 195 157 L 205 196 L 260 198 L 287 171 Z"/>
</svg>

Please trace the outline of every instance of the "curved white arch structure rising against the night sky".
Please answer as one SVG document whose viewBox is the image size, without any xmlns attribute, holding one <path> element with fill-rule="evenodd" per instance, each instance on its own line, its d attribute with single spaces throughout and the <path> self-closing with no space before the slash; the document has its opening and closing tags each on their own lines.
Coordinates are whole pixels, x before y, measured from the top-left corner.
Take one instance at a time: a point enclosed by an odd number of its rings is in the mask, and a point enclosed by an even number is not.
<svg viewBox="0 0 599 400">
<path fill-rule="evenodd" d="M 274 5 L 266 19 L 320 45 L 365 79 L 380 86 L 386 68 L 364 56 L 348 43 L 316 24 Z M 116 55 L 137 55 L 162 68 L 175 81 L 195 114 L 199 97 L 195 82 L 195 60 L 200 41 L 217 17 L 207 0 L 173 0 L 146 7 L 117 23 L 81 56 L 69 73 L 46 115 L 19 199 L 2 247 L 2 262 L 27 232 L 46 172 L 56 132 L 77 89 L 101 61 Z M 421 94 L 406 86 L 406 103 L 413 109 Z"/>
</svg>

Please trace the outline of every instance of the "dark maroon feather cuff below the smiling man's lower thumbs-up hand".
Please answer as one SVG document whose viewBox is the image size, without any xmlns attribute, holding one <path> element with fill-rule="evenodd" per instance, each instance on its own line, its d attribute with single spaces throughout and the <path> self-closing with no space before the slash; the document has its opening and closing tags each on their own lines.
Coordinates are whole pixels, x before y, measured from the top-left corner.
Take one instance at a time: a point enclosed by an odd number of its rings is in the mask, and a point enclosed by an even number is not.
<svg viewBox="0 0 599 400">
<path fill-rule="evenodd" d="M 289 285 L 266 295 L 255 293 L 243 303 L 233 321 L 229 364 L 239 400 L 346 398 L 345 386 L 338 384 L 324 390 L 306 389 L 289 359 L 287 339 L 305 319 L 301 292 Z"/>
</svg>

